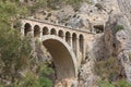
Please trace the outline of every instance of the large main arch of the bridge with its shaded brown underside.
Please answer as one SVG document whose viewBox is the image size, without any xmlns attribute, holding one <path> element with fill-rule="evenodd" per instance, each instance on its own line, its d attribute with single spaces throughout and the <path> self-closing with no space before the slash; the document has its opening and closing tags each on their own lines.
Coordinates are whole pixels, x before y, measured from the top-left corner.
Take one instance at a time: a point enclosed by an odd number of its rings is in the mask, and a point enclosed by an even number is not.
<svg viewBox="0 0 131 87">
<path fill-rule="evenodd" d="M 76 58 L 63 39 L 58 36 L 47 35 L 47 37 L 43 37 L 43 45 L 52 57 L 58 79 L 76 77 Z"/>
</svg>

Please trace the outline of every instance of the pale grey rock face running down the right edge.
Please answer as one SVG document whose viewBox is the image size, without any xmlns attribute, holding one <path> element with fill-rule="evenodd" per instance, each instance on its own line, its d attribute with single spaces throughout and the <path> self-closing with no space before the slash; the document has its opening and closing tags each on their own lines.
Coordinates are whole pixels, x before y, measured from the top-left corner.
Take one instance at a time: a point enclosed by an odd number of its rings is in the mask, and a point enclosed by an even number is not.
<svg viewBox="0 0 131 87">
<path fill-rule="evenodd" d="M 131 0 L 118 0 L 118 3 L 124 16 L 120 18 L 120 22 L 124 25 L 124 30 L 117 34 L 123 49 L 123 51 L 119 53 L 119 59 L 121 59 L 122 65 L 124 66 L 127 79 L 131 83 Z"/>
</svg>

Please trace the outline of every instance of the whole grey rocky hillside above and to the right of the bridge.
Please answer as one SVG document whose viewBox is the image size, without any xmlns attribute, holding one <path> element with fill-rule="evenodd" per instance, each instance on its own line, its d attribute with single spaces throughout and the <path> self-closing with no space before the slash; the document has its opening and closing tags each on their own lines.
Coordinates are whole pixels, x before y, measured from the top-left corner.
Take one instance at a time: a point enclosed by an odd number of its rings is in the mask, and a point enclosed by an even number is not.
<svg viewBox="0 0 131 87">
<path fill-rule="evenodd" d="M 32 1 L 29 1 L 29 4 L 33 4 Z M 49 7 L 34 9 L 34 12 L 28 17 L 75 29 L 84 29 L 94 34 L 88 42 L 86 60 L 82 62 L 80 75 L 78 82 L 75 82 L 78 84 L 74 86 L 93 87 L 97 86 L 96 78 L 106 79 L 106 75 L 100 77 L 100 75 L 93 72 L 96 62 L 98 65 L 102 62 L 104 64 L 108 62 L 111 65 L 114 62 L 115 65 L 118 64 L 115 66 L 116 69 L 114 69 L 112 71 L 118 69 L 117 74 L 116 72 L 111 73 L 115 75 L 112 78 L 109 78 L 110 83 L 122 78 L 131 83 L 130 7 L 131 0 L 82 0 L 79 4 L 67 4 L 59 0 L 58 2 L 50 3 Z M 110 59 L 112 59 L 111 62 Z M 105 72 L 100 73 L 105 74 Z M 64 86 L 61 84 L 60 87 Z"/>
</svg>

